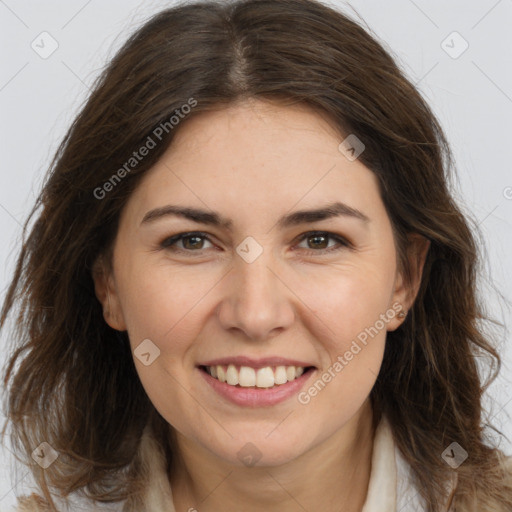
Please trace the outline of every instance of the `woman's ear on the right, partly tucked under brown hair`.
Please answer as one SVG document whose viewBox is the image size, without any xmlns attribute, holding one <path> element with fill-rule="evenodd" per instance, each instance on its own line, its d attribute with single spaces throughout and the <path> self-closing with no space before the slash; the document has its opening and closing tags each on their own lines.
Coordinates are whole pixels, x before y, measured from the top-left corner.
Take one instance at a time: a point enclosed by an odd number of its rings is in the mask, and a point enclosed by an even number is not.
<svg viewBox="0 0 512 512">
<path fill-rule="evenodd" d="M 394 304 L 395 306 L 393 306 L 392 309 L 397 311 L 398 314 L 388 323 L 388 331 L 394 331 L 397 329 L 405 320 L 407 313 L 412 308 L 420 289 L 423 267 L 430 248 L 430 240 L 427 240 L 424 236 L 418 233 L 411 233 L 408 238 L 409 244 L 407 246 L 407 260 L 411 269 L 411 281 L 407 283 L 403 273 L 400 271 L 397 272 L 390 309 L 391 305 Z M 397 304 L 401 306 L 399 311 Z M 400 314 L 403 316 L 400 317 Z"/>
</svg>

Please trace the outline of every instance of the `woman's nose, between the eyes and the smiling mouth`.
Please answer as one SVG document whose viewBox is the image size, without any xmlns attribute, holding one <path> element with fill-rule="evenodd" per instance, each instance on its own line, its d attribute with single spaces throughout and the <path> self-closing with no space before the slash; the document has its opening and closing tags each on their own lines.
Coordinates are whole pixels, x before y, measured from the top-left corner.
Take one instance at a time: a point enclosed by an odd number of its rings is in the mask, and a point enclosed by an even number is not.
<svg viewBox="0 0 512 512">
<path fill-rule="evenodd" d="M 293 324 L 294 295 L 275 268 L 265 251 L 252 263 L 235 258 L 217 310 L 225 330 L 242 332 L 250 340 L 261 341 Z"/>
</svg>

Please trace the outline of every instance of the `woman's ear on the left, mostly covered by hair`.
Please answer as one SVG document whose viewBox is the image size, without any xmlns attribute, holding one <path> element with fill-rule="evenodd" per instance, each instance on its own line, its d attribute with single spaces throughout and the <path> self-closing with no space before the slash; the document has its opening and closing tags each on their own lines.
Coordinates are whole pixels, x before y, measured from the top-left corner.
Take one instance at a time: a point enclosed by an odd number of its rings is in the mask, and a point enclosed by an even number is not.
<svg viewBox="0 0 512 512">
<path fill-rule="evenodd" d="M 105 262 L 103 255 L 98 256 L 92 267 L 92 278 L 96 297 L 103 306 L 105 322 L 118 331 L 126 331 L 121 303 L 115 285 L 111 266 Z"/>
</svg>

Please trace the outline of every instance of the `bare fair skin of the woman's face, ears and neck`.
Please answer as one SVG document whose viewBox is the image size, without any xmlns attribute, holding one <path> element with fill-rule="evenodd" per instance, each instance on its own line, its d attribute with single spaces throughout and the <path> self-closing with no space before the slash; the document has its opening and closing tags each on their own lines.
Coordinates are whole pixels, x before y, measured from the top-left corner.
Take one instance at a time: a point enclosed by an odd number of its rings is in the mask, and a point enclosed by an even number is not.
<svg viewBox="0 0 512 512">
<path fill-rule="evenodd" d="M 428 242 L 411 237 L 415 277 L 406 284 L 376 177 L 338 150 L 343 139 L 307 107 L 259 100 L 190 119 L 124 208 L 112 269 L 97 262 L 107 323 L 128 331 L 133 350 L 145 339 L 160 350 L 149 366 L 134 361 L 172 426 L 176 510 L 356 512 L 364 504 L 374 436 L 369 393 L 386 332 L 402 319 L 386 322 L 306 405 L 297 396 L 269 407 L 234 405 L 196 367 L 234 355 L 295 358 L 317 368 L 307 389 L 394 303 L 411 307 Z M 334 201 L 369 222 L 338 216 L 277 226 L 291 211 Z M 213 210 L 232 227 L 170 215 L 141 225 L 168 204 Z M 304 236 L 313 230 L 350 246 Z M 207 238 L 161 246 L 190 231 Z M 236 252 L 247 236 L 263 249 L 252 263 Z M 248 442 L 261 454 L 253 467 L 237 456 Z"/>
</svg>

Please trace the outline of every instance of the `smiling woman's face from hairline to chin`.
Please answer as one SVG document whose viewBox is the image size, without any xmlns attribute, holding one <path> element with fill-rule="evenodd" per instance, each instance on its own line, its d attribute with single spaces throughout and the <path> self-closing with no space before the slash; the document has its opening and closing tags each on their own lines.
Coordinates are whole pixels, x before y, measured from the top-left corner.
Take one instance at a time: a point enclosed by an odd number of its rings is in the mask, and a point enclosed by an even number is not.
<svg viewBox="0 0 512 512">
<path fill-rule="evenodd" d="M 390 220 L 318 113 L 251 101 L 185 123 L 123 210 L 97 294 L 183 439 L 291 461 L 368 404 L 410 305 Z"/>
</svg>

